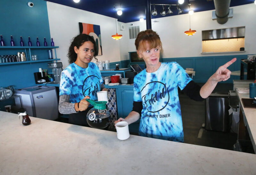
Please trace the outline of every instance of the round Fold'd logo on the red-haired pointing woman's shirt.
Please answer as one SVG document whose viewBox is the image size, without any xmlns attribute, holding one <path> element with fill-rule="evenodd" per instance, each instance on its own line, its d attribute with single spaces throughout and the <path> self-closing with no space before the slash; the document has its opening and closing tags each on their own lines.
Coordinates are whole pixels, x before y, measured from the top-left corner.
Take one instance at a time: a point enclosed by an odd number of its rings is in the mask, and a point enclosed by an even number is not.
<svg viewBox="0 0 256 175">
<path fill-rule="evenodd" d="M 159 81 L 147 83 L 140 91 L 142 104 L 148 112 L 158 112 L 166 107 L 170 96 L 165 84 Z"/>
</svg>

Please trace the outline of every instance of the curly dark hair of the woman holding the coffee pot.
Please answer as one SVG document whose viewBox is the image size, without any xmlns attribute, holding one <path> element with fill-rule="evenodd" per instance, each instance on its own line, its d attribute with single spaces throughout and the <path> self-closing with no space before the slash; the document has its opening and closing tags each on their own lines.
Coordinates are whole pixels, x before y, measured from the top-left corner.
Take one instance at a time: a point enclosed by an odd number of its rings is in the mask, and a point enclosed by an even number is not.
<svg viewBox="0 0 256 175">
<path fill-rule="evenodd" d="M 93 37 L 88 34 L 79 34 L 73 38 L 73 41 L 71 42 L 71 45 L 69 46 L 69 49 L 68 49 L 67 56 L 68 56 L 68 62 L 70 64 L 74 63 L 77 58 L 77 54 L 75 52 L 74 47 L 76 46 L 79 49 L 79 47 L 82 46 L 84 44 L 84 42 L 86 42 L 86 41 L 90 41 L 93 43 L 94 50 L 95 50 L 93 57 L 98 62 L 98 59 L 96 58 L 96 56 L 98 55 L 98 49 L 97 49 L 96 42 L 94 41 Z"/>
</svg>

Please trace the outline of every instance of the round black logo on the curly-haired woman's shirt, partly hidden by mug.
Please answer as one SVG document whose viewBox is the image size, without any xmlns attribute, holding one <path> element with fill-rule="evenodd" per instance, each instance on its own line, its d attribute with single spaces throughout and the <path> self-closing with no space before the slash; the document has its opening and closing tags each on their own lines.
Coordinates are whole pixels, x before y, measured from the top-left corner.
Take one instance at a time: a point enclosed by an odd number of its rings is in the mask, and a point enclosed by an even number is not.
<svg viewBox="0 0 256 175">
<path fill-rule="evenodd" d="M 91 86 L 90 86 L 91 85 Z M 94 96 L 100 91 L 100 79 L 95 75 L 90 75 L 84 79 L 83 95 Z"/>
</svg>

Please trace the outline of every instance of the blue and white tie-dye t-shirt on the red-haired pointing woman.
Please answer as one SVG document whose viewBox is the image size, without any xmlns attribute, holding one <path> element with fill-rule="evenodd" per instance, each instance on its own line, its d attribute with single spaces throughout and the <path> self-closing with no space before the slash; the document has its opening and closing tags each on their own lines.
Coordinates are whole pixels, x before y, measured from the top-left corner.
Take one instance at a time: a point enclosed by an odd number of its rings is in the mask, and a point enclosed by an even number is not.
<svg viewBox="0 0 256 175">
<path fill-rule="evenodd" d="M 178 87 L 182 90 L 192 79 L 176 62 L 161 63 L 156 72 L 146 69 L 134 78 L 134 97 L 142 101 L 139 133 L 151 138 L 184 141 Z"/>
</svg>

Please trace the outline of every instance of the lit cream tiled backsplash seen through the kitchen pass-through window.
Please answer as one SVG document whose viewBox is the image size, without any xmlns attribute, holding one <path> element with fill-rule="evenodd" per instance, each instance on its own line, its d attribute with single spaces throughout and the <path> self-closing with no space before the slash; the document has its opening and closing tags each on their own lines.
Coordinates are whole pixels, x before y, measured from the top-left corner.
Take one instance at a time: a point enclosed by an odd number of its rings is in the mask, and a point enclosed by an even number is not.
<svg viewBox="0 0 256 175">
<path fill-rule="evenodd" d="M 244 38 L 202 41 L 202 52 L 233 52 L 244 47 Z"/>
</svg>

